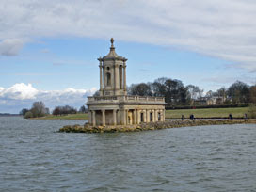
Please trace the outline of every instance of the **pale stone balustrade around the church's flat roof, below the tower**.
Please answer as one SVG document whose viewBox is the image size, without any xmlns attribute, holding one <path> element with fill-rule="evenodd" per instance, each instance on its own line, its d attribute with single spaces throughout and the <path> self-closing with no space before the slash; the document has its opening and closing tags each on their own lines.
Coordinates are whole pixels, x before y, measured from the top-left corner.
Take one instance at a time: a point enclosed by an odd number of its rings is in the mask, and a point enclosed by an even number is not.
<svg viewBox="0 0 256 192">
<path fill-rule="evenodd" d="M 147 97 L 147 96 L 130 96 L 130 95 L 122 95 L 122 96 L 97 96 L 97 97 L 88 97 L 88 103 L 90 102 L 157 102 L 157 103 L 165 103 L 164 97 Z"/>
</svg>

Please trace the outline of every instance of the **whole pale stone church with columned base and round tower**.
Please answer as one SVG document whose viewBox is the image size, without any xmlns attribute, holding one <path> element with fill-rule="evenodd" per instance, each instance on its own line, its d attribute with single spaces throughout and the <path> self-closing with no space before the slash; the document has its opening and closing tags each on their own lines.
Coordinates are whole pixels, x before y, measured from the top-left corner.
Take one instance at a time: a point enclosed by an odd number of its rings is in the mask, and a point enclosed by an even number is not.
<svg viewBox="0 0 256 192">
<path fill-rule="evenodd" d="M 165 98 L 127 95 L 126 61 L 118 56 L 113 38 L 107 56 L 100 62 L 100 96 L 88 97 L 88 123 L 129 125 L 165 120 Z"/>
</svg>

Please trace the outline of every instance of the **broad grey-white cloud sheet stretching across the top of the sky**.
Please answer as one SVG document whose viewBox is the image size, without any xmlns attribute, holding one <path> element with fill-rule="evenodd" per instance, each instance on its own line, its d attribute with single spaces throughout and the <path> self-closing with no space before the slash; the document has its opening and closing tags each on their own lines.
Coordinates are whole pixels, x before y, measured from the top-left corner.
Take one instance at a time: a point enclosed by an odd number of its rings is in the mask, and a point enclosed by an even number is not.
<svg viewBox="0 0 256 192">
<path fill-rule="evenodd" d="M 232 60 L 254 72 L 255 9 L 253 0 L 2 0 L 0 40 L 114 36 Z"/>
</svg>

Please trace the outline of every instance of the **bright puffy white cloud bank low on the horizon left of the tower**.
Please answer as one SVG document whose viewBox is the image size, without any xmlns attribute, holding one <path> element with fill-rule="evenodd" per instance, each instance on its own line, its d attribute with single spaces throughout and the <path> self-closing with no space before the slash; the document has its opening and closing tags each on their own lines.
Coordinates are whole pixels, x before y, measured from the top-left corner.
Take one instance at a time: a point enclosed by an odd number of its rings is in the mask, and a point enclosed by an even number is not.
<svg viewBox="0 0 256 192">
<path fill-rule="evenodd" d="M 0 113 L 18 113 L 22 108 L 29 108 L 35 101 L 42 101 L 53 109 L 57 105 L 72 105 L 80 107 L 87 102 L 87 97 L 92 95 L 97 88 L 64 90 L 39 90 L 31 84 L 15 84 L 10 88 L 0 87 Z M 11 108 L 11 111 L 9 111 Z"/>
</svg>

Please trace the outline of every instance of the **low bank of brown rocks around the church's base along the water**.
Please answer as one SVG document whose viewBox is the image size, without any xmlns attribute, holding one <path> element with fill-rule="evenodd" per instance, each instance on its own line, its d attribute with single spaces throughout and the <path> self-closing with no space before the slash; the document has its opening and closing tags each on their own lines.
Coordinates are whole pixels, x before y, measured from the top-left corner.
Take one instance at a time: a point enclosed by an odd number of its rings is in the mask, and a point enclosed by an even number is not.
<svg viewBox="0 0 256 192">
<path fill-rule="evenodd" d="M 116 125 L 116 126 L 90 126 L 86 123 L 82 125 L 67 125 L 59 129 L 59 132 L 66 133 L 113 133 L 113 132 L 139 132 L 148 130 L 159 130 L 167 128 L 180 128 L 203 125 L 223 125 L 223 124 L 248 124 L 255 123 L 256 120 L 168 120 L 165 122 L 149 122 L 136 125 Z"/>
</svg>

